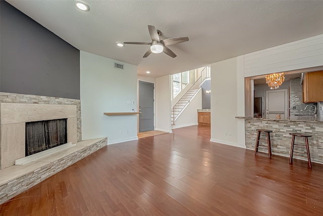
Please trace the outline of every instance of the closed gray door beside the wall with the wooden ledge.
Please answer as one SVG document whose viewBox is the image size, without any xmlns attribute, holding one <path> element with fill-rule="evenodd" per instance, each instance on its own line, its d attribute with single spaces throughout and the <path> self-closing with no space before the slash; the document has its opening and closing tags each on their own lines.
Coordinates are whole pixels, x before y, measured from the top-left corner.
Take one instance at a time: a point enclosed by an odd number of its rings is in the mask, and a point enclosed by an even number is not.
<svg viewBox="0 0 323 216">
<path fill-rule="evenodd" d="M 138 83 L 139 125 L 138 132 L 154 130 L 154 83 Z"/>
</svg>

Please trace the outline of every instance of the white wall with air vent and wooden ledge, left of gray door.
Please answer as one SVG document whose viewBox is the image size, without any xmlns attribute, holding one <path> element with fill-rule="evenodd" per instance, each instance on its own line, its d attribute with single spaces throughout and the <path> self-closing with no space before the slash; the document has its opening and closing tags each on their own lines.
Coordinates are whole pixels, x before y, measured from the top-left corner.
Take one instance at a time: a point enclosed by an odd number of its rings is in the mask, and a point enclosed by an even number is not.
<svg viewBox="0 0 323 216">
<path fill-rule="evenodd" d="M 107 137 L 108 144 L 113 144 L 138 139 L 137 115 L 103 115 L 132 109 L 137 112 L 137 67 L 121 63 L 121 70 L 114 68 L 114 62 L 80 51 L 83 140 Z"/>
</svg>

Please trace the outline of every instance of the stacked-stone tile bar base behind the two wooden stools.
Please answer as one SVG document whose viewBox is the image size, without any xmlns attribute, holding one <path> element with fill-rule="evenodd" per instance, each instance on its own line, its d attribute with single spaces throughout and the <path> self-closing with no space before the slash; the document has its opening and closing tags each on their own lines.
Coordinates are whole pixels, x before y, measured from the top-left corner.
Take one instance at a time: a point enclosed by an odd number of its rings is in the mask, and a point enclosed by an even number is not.
<svg viewBox="0 0 323 216">
<path fill-rule="evenodd" d="M 309 151 L 312 162 L 323 163 L 323 122 L 320 121 L 301 121 L 301 120 L 276 120 L 276 119 L 245 119 L 245 138 L 246 148 L 254 150 L 257 132 L 256 129 L 270 129 L 273 132 L 271 135 L 272 153 L 289 157 L 291 151 L 292 136 L 291 132 L 312 134 L 308 138 Z M 264 138 L 264 137 L 262 137 Z M 261 142 L 263 148 L 259 151 L 266 152 L 266 143 Z M 304 138 L 296 138 L 295 144 L 305 146 Z M 294 148 L 294 151 L 306 153 L 306 148 Z M 307 160 L 306 155 L 293 154 L 293 158 Z"/>
</svg>

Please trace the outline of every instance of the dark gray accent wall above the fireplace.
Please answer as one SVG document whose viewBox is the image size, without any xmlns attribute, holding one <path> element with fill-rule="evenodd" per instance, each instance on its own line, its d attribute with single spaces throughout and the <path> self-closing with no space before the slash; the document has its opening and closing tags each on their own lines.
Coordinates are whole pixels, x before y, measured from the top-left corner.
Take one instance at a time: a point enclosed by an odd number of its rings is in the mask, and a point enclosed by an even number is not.
<svg viewBox="0 0 323 216">
<path fill-rule="evenodd" d="M 0 4 L 0 92 L 80 99 L 80 51 Z"/>
</svg>

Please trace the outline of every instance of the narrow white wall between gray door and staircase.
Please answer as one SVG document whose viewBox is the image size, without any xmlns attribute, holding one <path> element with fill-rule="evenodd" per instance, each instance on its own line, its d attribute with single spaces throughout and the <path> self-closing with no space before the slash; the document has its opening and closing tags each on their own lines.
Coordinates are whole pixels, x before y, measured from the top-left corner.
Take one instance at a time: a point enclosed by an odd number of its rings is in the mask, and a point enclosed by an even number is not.
<svg viewBox="0 0 323 216">
<path fill-rule="evenodd" d="M 156 78 L 155 104 L 156 104 L 156 127 L 158 131 L 172 132 L 171 125 L 171 76 Z"/>
</svg>

